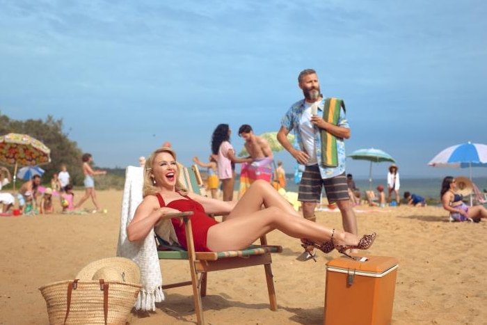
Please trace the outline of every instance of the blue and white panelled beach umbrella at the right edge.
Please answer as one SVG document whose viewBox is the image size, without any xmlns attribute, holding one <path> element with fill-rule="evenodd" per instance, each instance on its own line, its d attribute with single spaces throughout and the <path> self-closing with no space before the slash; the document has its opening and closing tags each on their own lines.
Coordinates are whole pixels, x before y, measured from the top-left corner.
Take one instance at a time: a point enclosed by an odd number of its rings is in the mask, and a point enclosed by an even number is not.
<svg viewBox="0 0 487 325">
<path fill-rule="evenodd" d="M 472 167 L 487 167 L 487 145 L 470 142 L 452 145 L 431 159 L 428 166 L 470 168 L 472 175 Z"/>
</svg>

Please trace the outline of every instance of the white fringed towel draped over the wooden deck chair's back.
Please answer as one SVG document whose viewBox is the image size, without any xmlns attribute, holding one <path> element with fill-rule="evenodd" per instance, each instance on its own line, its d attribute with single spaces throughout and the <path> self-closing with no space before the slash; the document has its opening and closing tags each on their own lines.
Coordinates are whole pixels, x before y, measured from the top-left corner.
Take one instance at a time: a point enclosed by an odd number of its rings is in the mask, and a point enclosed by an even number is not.
<svg viewBox="0 0 487 325">
<path fill-rule="evenodd" d="M 118 235 L 117 256 L 133 260 L 141 268 L 141 292 L 134 305 L 136 310 L 155 310 L 155 303 L 164 300 L 162 292 L 162 274 L 157 256 L 157 244 L 154 239 L 154 230 L 150 231 L 144 241 L 135 243 L 127 238 L 127 226 L 134 219 L 135 210 L 142 202 L 143 168 L 128 166 L 125 173 L 125 187 L 122 199 L 122 212 L 120 214 L 120 234 Z M 170 220 L 163 225 L 168 230 L 165 235 L 159 234 L 164 240 L 177 242 L 173 224 Z"/>
</svg>

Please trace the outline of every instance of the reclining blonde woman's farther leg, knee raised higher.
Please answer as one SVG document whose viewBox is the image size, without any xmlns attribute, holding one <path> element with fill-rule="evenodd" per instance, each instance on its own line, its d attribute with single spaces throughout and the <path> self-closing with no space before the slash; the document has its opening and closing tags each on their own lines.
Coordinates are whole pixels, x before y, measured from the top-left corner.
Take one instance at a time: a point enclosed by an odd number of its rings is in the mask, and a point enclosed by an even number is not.
<svg viewBox="0 0 487 325">
<path fill-rule="evenodd" d="M 292 214 L 301 218 L 301 215 L 296 212 L 294 207 L 269 182 L 256 180 L 246 190 L 244 196 L 240 198 L 232 212 L 227 216 L 227 219 L 248 216 L 248 214 L 260 211 L 262 205 L 264 207 L 278 207 L 281 213 Z"/>
</svg>

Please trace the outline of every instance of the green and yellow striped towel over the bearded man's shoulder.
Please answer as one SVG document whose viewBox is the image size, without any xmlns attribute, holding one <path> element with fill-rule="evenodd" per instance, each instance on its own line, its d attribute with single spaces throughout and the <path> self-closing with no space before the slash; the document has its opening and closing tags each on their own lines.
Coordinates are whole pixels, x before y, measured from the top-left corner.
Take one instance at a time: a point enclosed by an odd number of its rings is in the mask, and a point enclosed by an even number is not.
<svg viewBox="0 0 487 325">
<path fill-rule="evenodd" d="M 323 119 L 333 125 L 338 124 L 340 109 L 345 111 L 345 103 L 338 98 L 326 98 Z M 321 161 L 324 166 L 338 166 L 337 138 L 326 130 L 321 130 Z"/>
</svg>

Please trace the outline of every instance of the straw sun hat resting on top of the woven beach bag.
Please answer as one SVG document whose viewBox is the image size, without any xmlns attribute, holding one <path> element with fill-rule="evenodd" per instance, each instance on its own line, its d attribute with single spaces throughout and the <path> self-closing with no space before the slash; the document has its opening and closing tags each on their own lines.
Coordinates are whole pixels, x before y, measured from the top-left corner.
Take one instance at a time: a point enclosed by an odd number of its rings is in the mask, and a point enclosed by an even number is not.
<svg viewBox="0 0 487 325">
<path fill-rule="evenodd" d="M 76 276 L 79 280 L 111 280 L 126 283 L 140 283 L 141 269 L 138 264 L 125 257 L 108 257 L 91 262 Z"/>
</svg>

